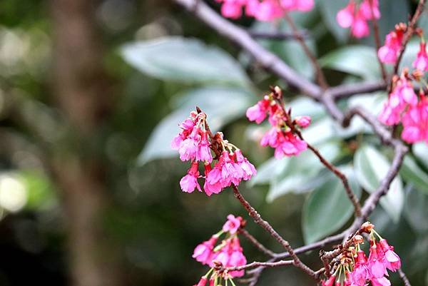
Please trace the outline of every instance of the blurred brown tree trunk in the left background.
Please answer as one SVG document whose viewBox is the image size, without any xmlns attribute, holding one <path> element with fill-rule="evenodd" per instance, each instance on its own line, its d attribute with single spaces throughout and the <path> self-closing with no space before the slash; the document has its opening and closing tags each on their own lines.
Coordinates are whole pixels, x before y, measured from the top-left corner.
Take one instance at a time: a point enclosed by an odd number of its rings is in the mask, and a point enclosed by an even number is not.
<svg viewBox="0 0 428 286">
<path fill-rule="evenodd" d="M 57 145 L 51 165 L 62 190 L 71 284 L 76 286 L 123 285 L 116 249 L 103 233 L 108 190 L 93 148 L 100 148 L 94 141 L 110 99 L 95 6 L 91 0 L 51 0 L 54 100 L 76 143 Z"/>
</svg>

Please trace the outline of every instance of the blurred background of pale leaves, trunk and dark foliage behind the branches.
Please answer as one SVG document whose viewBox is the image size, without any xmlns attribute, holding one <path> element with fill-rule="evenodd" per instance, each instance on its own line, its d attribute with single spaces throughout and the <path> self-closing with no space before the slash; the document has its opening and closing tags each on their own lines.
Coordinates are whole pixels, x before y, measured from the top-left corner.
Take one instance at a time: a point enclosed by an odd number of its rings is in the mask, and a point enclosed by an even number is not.
<svg viewBox="0 0 428 286">
<path fill-rule="evenodd" d="M 215 1 L 206 1 L 218 11 Z M 414 1 L 379 0 L 382 39 Z M 335 14 L 344 0 L 319 0 L 292 14 L 308 31 L 331 85 L 379 78 L 372 36 L 350 39 Z M 427 26 L 426 12 L 420 25 Z M 287 32 L 282 21 L 238 24 Z M 302 76 L 313 70 L 295 41 L 262 44 Z M 417 51 L 412 41 L 404 56 Z M 247 218 L 231 190 L 182 193 L 188 164 L 169 148 L 195 105 L 258 167 L 243 194 L 293 246 L 345 228 L 352 210 L 340 183 L 310 153 L 273 160 L 258 140 L 267 126 L 245 110 L 278 84 L 295 115 L 312 116 L 305 138 L 340 165 L 362 198 L 388 167 L 391 150 L 360 121 L 347 131 L 321 106 L 289 91 L 230 41 L 165 0 L 0 2 L 0 285 L 174 285 L 206 268 L 191 258 L 226 215 Z M 384 93 L 341 104 L 373 113 Z M 412 285 L 428 285 L 428 148 L 412 154 L 370 218 L 395 245 Z M 263 230 L 248 230 L 282 251 Z M 248 260 L 264 260 L 245 239 Z M 317 251 L 302 255 L 320 267 Z M 397 274 L 393 285 L 402 285 Z M 292 268 L 265 270 L 259 285 L 313 285 Z"/>
</svg>

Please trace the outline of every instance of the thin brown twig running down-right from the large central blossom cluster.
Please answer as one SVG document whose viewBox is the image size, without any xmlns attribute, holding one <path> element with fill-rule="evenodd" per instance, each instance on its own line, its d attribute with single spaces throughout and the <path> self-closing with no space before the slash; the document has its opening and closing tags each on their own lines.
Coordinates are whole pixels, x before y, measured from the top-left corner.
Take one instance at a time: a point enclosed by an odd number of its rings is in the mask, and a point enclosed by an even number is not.
<svg viewBox="0 0 428 286">
<path fill-rule="evenodd" d="M 240 201 L 241 205 L 243 205 L 245 210 L 248 211 L 248 214 L 250 215 L 251 218 L 253 218 L 254 222 L 260 225 L 262 228 L 264 228 L 267 231 L 267 233 L 269 233 L 272 236 L 272 238 L 275 238 L 277 242 L 280 242 L 280 245 L 282 245 L 282 247 L 284 247 L 285 250 L 287 250 L 287 252 L 290 253 L 290 257 L 292 257 L 292 260 L 294 261 L 294 265 L 300 268 L 301 270 L 303 270 L 304 272 L 306 272 L 307 275 L 310 275 L 311 277 L 315 277 L 315 272 L 312 269 L 310 269 L 310 267 L 307 267 L 305 263 L 300 261 L 299 257 L 297 257 L 294 250 L 290 246 L 290 243 L 287 242 L 287 240 L 285 240 L 284 238 L 282 238 L 282 236 L 279 235 L 277 231 L 272 228 L 270 223 L 267 223 L 266 220 L 263 220 L 260 213 L 258 213 L 257 210 L 255 210 L 255 208 L 253 208 L 250 205 L 250 203 L 248 203 L 248 201 L 245 200 L 245 198 L 243 197 L 243 195 L 240 193 L 240 191 L 235 185 L 232 185 L 232 188 L 233 188 L 233 193 L 235 195 L 235 198 L 237 198 Z"/>
</svg>

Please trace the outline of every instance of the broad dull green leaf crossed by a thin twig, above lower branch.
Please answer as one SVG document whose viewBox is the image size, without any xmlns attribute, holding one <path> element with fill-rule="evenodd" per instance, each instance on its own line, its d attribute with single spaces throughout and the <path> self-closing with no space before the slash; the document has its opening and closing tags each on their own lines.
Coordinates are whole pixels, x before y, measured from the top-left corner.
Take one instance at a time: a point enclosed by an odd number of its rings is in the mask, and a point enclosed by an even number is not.
<svg viewBox="0 0 428 286">
<path fill-rule="evenodd" d="M 347 175 L 355 195 L 360 198 L 361 190 L 352 168 L 347 166 L 341 170 Z M 342 181 L 331 173 L 327 178 L 325 183 L 310 193 L 303 206 L 302 229 L 306 244 L 339 230 L 354 213 L 354 207 L 347 197 Z"/>
</svg>

